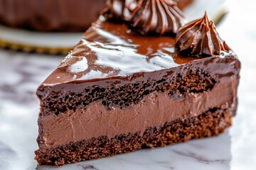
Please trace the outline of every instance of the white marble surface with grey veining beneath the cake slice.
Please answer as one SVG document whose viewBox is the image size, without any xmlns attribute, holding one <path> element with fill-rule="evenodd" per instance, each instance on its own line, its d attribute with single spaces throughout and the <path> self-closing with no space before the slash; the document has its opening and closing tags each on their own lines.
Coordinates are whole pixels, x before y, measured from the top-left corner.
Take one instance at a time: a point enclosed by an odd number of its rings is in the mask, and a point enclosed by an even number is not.
<svg viewBox="0 0 256 170">
<path fill-rule="evenodd" d="M 218 137 L 143 149 L 61 169 L 256 169 L 255 7 L 253 0 L 233 0 L 231 12 L 218 27 L 221 37 L 242 61 L 238 115 L 229 130 Z M 0 50 L 0 170 L 59 169 L 38 166 L 33 151 L 38 148 L 39 102 L 35 91 L 62 58 Z"/>
</svg>

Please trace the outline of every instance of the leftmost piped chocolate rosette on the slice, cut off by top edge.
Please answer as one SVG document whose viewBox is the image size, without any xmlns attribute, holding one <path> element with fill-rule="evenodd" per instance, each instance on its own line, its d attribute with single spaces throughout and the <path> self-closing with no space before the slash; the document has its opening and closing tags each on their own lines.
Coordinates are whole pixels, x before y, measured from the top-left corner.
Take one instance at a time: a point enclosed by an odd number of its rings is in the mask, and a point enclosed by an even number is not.
<svg viewBox="0 0 256 170">
<path fill-rule="evenodd" d="M 107 8 L 102 11 L 102 15 L 112 21 L 130 21 L 137 1 L 139 0 L 107 0 Z"/>
</svg>

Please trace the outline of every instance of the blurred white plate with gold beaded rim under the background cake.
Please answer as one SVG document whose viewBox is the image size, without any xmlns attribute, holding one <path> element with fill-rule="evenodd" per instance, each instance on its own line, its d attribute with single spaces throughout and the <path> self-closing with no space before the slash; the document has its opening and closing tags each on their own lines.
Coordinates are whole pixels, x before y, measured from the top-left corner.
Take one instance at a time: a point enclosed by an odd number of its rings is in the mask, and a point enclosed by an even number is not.
<svg viewBox="0 0 256 170">
<path fill-rule="evenodd" d="M 195 0 L 184 13 L 188 21 L 201 18 L 205 11 L 209 18 L 219 21 L 227 11 L 225 0 Z M 24 51 L 67 53 L 82 38 L 82 33 L 40 33 L 0 26 L 0 46 Z"/>
</svg>

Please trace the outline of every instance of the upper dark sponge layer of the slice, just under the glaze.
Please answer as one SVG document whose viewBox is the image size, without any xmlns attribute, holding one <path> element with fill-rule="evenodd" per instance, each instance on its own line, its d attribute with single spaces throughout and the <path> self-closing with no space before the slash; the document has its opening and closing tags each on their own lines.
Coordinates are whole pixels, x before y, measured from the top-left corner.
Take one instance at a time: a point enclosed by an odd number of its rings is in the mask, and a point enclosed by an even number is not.
<svg viewBox="0 0 256 170">
<path fill-rule="evenodd" d="M 144 96 L 154 91 L 168 92 L 169 96 L 175 98 L 186 98 L 189 93 L 201 93 L 210 91 L 216 83 L 216 78 L 206 70 L 198 67 L 186 67 L 183 74 L 166 74 L 160 77 L 156 74 L 156 79 L 140 79 L 138 81 L 124 83 L 122 85 L 110 84 L 107 87 L 94 85 L 82 89 L 80 92 L 73 91 L 51 91 L 46 98 L 41 101 L 43 111 L 41 115 L 58 115 L 75 111 L 77 108 L 85 108 L 90 103 L 102 103 L 107 109 L 113 106 L 126 108 L 132 103 L 139 103 Z M 161 74 L 161 72 L 160 72 Z M 146 77 L 146 76 L 145 76 Z M 119 81 L 122 81 L 121 79 Z M 98 83 L 100 84 L 100 83 Z M 42 88 L 45 88 L 44 86 Z M 43 91 L 43 90 L 42 90 Z"/>
</svg>

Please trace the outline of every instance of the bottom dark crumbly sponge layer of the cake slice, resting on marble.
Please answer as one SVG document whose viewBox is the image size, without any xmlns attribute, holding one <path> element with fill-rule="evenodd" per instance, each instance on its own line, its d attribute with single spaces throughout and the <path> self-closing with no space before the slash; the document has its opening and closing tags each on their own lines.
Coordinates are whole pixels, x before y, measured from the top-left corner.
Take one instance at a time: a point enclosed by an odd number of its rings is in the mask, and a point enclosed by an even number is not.
<svg viewBox="0 0 256 170">
<path fill-rule="evenodd" d="M 163 126 L 147 128 L 143 133 L 119 134 L 113 138 L 94 137 L 48 149 L 45 153 L 37 150 L 35 159 L 38 164 L 62 166 L 66 163 L 110 157 L 142 148 L 174 145 L 178 142 L 219 135 L 231 125 L 231 118 L 230 108 L 223 105 L 212 108 L 198 117 L 177 119 Z"/>
</svg>

